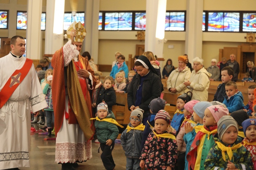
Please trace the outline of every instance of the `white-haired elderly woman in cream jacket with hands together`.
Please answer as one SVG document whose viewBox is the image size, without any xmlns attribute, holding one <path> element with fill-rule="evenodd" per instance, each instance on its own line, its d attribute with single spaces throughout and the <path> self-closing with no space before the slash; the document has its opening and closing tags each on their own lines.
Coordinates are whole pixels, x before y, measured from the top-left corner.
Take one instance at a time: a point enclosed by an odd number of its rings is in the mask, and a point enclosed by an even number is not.
<svg viewBox="0 0 256 170">
<path fill-rule="evenodd" d="M 203 68 L 203 59 L 196 57 L 192 60 L 193 71 L 190 75 L 190 79 L 183 84 L 189 87 L 189 91 L 192 91 L 193 96 L 191 100 L 207 101 L 208 100 L 208 88 L 210 85 L 209 77 L 211 73 L 207 72 Z"/>
</svg>

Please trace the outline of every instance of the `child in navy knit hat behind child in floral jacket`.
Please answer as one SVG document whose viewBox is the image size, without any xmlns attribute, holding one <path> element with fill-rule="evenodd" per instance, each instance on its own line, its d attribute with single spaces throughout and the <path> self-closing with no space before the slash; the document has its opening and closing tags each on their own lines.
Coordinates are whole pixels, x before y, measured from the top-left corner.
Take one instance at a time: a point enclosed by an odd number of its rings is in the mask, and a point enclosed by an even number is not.
<svg viewBox="0 0 256 170">
<path fill-rule="evenodd" d="M 156 114 L 160 111 L 165 109 L 165 100 L 161 99 L 160 97 L 151 100 L 150 104 L 148 107 L 150 108 L 150 115 L 147 118 L 147 123 L 145 124 L 145 129 L 143 132 L 143 137 L 141 141 L 141 149 L 144 147 L 145 141 L 152 131 L 152 129 L 155 126 L 155 116 Z"/>
</svg>

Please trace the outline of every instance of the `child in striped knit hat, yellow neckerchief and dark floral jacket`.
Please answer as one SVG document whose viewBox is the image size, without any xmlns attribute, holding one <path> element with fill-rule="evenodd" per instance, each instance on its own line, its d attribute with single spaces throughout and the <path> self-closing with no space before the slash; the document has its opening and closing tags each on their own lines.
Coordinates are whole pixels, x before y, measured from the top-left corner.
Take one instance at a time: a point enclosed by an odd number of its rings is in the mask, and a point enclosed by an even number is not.
<svg viewBox="0 0 256 170">
<path fill-rule="evenodd" d="M 175 136 L 167 130 L 170 126 L 170 115 L 159 111 L 155 117 L 155 127 L 148 135 L 140 157 L 140 167 L 146 169 L 174 169 L 177 158 L 177 142 Z"/>
</svg>

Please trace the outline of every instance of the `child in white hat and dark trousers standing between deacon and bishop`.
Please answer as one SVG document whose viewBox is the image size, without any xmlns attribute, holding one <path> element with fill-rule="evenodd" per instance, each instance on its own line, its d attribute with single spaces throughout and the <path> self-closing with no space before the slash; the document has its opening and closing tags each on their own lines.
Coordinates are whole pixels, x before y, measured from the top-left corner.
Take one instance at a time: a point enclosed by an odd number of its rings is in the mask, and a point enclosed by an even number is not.
<svg viewBox="0 0 256 170">
<path fill-rule="evenodd" d="M 44 109 L 46 118 L 47 118 L 47 129 L 48 129 L 48 135 L 46 136 L 46 138 L 52 137 L 52 127 L 54 127 L 52 80 L 53 80 L 53 76 L 48 75 L 46 85 L 43 89 L 43 94 L 45 95 L 45 101 L 48 104 L 48 107 L 45 107 Z M 53 123 L 53 126 L 52 126 L 52 123 Z"/>
</svg>

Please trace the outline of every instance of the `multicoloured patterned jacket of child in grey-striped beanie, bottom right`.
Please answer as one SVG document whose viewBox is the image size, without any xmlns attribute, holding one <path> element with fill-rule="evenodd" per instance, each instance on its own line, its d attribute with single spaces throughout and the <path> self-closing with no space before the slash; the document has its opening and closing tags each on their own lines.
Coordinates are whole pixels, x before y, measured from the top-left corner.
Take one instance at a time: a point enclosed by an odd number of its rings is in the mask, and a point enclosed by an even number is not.
<svg viewBox="0 0 256 170">
<path fill-rule="evenodd" d="M 219 138 L 214 138 L 215 141 L 222 142 L 219 140 Z M 222 142 L 223 143 L 223 142 Z M 241 138 L 238 137 L 236 142 L 233 145 L 236 145 L 238 143 L 241 143 Z M 224 143 L 223 143 L 224 144 Z M 228 146 L 224 144 L 225 146 Z M 233 146 L 232 145 L 232 146 Z M 236 169 L 241 170 L 252 170 L 253 169 L 253 162 L 251 158 L 251 154 L 249 151 L 246 150 L 244 146 L 232 150 L 233 156 L 230 162 L 234 163 Z M 204 162 L 204 169 L 206 170 L 225 170 L 227 168 L 228 164 L 228 155 L 227 152 L 225 152 L 225 158 L 226 162 L 224 161 L 222 157 L 222 150 L 218 148 L 217 144 L 210 149 L 205 162 Z"/>
</svg>

